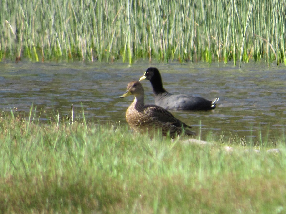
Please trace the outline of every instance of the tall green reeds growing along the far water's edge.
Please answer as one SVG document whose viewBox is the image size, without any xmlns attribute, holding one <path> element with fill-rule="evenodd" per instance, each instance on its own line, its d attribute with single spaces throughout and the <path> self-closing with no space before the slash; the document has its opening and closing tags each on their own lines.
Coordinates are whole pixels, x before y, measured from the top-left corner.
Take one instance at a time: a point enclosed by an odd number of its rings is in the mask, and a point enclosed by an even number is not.
<svg viewBox="0 0 286 214">
<path fill-rule="evenodd" d="M 283 1 L 1 1 L 0 60 L 286 64 Z"/>
</svg>

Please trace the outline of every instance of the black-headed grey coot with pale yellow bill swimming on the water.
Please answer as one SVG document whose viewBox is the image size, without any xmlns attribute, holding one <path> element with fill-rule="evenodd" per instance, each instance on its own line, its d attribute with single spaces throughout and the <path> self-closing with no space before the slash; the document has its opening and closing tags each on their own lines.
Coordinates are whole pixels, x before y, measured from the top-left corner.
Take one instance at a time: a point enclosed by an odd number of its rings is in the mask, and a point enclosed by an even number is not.
<svg viewBox="0 0 286 214">
<path fill-rule="evenodd" d="M 163 88 L 162 78 L 159 70 L 150 67 L 139 79 L 150 80 L 155 97 L 155 104 L 167 110 L 212 110 L 215 109 L 219 97 L 207 100 L 200 96 L 187 94 L 171 94 Z"/>
</svg>

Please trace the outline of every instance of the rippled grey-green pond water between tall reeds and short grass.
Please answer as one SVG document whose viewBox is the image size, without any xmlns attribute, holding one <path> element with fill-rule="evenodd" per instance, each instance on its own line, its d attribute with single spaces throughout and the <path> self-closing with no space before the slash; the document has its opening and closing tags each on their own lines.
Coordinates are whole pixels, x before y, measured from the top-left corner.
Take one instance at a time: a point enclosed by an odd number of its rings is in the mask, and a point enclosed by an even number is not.
<svg viewBox="0 0 286 214">
<path fill-rule="evenodd" d="M 220 97 L 211 111 L 171 111 L 205 139 L 238 137 L 253 142 L 283 138 L 286 124 L 285 66 L 231 62 L 212 63 L 31 63 L 0 62 L 1 110 L 17 108 L 29 115 L 31 106 L 41 122 L 59 114 L 71 116 L 84 109 L 94 123 L 125 124 L 133 97 L 119 98 L 128 82 L 139 80 L 150 66 L 157 67 L 164 88 L 172 93 Z M 149 81 L 142 81 L 145 103 L 154 104 Z"/>
</svg>

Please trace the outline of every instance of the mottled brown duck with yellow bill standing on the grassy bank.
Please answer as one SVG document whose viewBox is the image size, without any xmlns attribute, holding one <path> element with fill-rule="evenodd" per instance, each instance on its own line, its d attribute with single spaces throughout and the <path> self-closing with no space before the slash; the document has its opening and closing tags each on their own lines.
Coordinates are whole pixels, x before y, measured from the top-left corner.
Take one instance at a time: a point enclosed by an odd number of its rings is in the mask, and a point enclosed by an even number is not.
<svg viewBox="0 0 286 214">
<path fill-rule="evenodd" d="M 133 95 L 134 101 L 126 110 L 126 121 L 136 132 L 160 130 L 162 135 L 171 138 L 179 135 L 196 135 L 191 126 L 175 118 L 168 110 L 144 104 L 144 88 L 139 81 L 129 82 L 126 92 L 120 98 Z"/>
</svg>

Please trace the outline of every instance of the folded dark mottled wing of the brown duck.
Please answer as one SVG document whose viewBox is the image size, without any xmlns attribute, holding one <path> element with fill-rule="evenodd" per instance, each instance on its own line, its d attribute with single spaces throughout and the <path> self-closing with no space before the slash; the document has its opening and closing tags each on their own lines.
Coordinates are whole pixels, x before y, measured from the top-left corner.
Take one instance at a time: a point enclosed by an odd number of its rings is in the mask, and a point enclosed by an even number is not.
<svg viewBox="0 0 286 214">
<path fill-rule="evenodd" d="M 156 118 L 156 120 L 163 122 L 163 123 L 171 123 L 176 127 L 184 127 L 184 128 L 191 128 L 184 122 L 180 121 L 179 119 L 175 118 L 170 112 L 160 106 L 154 105 L 146 105 L 144 109 L 144 113 L 148 114 L 152 118 Z"/>
</svg>

